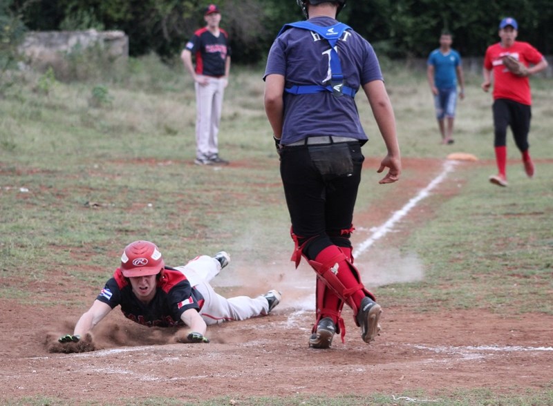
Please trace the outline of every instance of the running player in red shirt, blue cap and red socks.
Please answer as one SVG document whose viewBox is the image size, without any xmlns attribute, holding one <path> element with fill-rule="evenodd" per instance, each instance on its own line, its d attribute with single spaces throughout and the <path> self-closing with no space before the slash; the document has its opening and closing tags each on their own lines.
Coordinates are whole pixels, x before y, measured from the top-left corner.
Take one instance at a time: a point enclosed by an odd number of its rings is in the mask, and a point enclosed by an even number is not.
<svg viewBox="0 0 553 406">
<path fill-rule="evenodd" d="M 489 182 L 507 186 L 507 127 L 522 154 L 524 170 L 534 176 L 534 163 L 529 153 L 528 133 L 532 117 L 532 94 L 528 76 L 547 68 L 543 55 L 527 42 L 516 41 L 518 23 L 507 17 L 499 23 L 501 41 L 489 46 L 484 58 L 482 90 L 491 86 L 494 74 L 494 148 L 498 174 Z"/>
</svg>

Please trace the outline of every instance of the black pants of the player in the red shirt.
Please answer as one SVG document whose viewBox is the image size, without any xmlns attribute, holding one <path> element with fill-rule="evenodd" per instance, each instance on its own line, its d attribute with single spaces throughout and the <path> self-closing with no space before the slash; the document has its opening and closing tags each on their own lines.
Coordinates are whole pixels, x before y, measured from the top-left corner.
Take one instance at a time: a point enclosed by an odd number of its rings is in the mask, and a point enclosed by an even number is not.
<svg viewBox="0 0 553 406">
<path fill-rule="evenodd" d="M 496 99 L 494 111 L 494 146 L 507 145 L 507 126 L 513 131 L 514 142 L 521 152 L 527 151 L 532 109 L 509 99 Z"/>
</svg>

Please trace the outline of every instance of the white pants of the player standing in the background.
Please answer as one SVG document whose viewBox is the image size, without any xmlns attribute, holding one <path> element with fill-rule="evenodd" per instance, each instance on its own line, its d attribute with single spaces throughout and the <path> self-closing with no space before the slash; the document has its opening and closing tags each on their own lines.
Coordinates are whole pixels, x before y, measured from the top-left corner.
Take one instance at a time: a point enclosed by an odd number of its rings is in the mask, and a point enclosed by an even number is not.
<svg viewBox="0 0 553 406">
<path fill-rule="evenodd" d="M 223 77 L 209 77 L 205 86 L 194 84 L 196 88 L 196 157 L 209 159 L 218 154 L 218 134 L 223 110 L 225 83 Z"/>
</svg>

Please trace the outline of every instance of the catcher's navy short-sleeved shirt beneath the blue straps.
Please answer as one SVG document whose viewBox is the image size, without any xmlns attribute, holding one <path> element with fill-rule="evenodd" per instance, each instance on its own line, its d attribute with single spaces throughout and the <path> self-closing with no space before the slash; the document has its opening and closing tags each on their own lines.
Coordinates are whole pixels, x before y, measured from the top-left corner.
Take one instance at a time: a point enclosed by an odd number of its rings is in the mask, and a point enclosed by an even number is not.
<svg viewBox="0 0 553 406">
<path fill-rule="evenodd" d="M 318 26 L 337 23 L 330 17 L 309 19 Z M 344 73 L 344 84 L 359 88 L 370 81 L 383 80 L 373 47 L 353 30 L 346 30 L 337 42 Z M 286 78 L 286 86 L 321 85 L 329 79 L 330 45 L 313 32 L 289 28 L 274 40 L 269 52 L 265 75 L 277 74 Z M 297 64 L 298 60 L 312 64 Z M 286 63 L 288 61 L 288 64 Z M 306 99 L 308 97 L 309 101 Z M 357 114 L 355 99 L 335 97 L 330 92 L 308 95 L 284 95 L 284 125 L 281 142 L 290 144 L 319 135 L 337 135 L 367 139 Z"/>
</svg>

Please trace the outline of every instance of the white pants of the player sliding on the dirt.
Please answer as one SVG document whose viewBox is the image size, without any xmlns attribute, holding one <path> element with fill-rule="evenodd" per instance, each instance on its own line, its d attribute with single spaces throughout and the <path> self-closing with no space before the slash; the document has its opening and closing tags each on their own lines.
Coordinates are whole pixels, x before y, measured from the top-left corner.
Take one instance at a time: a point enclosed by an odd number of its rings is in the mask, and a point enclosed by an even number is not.
<svg viewBox="0 0 553 406">
<path fill-rule="evenodd" d="M 269 303 L 263 296 L 256 298 L 236 296 L 227 299 L 214 291 L 209 281 L 221 272 L 221 263 L 215 258 L 200 255 L 175 269 L 182 272 L 190 284 L 202 294 L 205 302 L 200 310 L 200 316 L 207 325 L 268 314 Z"/>
</svg>

